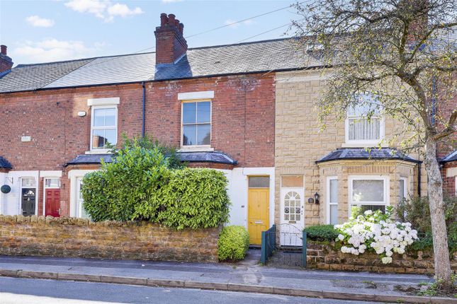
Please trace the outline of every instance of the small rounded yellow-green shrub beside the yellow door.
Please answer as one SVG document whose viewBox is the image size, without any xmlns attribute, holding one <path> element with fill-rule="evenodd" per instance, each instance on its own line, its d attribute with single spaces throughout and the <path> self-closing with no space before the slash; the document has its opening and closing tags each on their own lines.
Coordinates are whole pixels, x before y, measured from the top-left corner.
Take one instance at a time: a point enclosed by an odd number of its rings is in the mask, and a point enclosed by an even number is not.
<svg viewBox="0 0 457 304">
<path fill-rule="evenodd" d="M 218 257 L 220 261 L 244 259 L 249 249 L 249 233 L 243 226 L 222 228 L 218 240 Z"/>
</svg>

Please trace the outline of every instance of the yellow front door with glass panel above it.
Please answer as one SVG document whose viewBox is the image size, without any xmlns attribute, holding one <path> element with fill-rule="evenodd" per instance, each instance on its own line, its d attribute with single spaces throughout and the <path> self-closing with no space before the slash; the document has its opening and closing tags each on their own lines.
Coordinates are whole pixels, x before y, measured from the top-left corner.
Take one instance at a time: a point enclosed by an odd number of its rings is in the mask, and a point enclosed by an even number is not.
<svg viewBox="0 0 457 304">
<path fill-rule="evenodd" d="M 270 177 L 249 176 L 247 230 L 251 244 L 261 244 L 261 233 L 270 228 Z"/>
</svg>

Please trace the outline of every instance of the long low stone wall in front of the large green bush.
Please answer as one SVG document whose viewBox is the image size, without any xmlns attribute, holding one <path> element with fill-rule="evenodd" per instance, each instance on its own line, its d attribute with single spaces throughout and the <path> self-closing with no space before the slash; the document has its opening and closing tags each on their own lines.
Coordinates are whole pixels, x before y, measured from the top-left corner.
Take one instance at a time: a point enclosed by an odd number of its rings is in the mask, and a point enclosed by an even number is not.
<svg viewBox="0 0 457 304">
<path fill-rule="evenodd" d="M 220 228 L 50 216 L 0 216 L 0 255 L 217 262 Z"/>
</svg>

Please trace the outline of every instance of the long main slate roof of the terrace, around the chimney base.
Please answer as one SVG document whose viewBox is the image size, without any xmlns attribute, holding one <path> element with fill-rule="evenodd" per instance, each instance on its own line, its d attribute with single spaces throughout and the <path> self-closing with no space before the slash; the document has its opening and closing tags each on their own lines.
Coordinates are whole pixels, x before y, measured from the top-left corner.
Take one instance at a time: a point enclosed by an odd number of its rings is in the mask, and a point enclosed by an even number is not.
<svg viewBox="0 0 457 304">
<path fill-rule="evenodd" d="M 0 93 L 179 78 L 287 71 L 322 66 L 319 55 L 293 38 L 196 47 L 176 64 L 155 64 L 155 53 L 19 64 L 0 76 Z"/>
</svg>

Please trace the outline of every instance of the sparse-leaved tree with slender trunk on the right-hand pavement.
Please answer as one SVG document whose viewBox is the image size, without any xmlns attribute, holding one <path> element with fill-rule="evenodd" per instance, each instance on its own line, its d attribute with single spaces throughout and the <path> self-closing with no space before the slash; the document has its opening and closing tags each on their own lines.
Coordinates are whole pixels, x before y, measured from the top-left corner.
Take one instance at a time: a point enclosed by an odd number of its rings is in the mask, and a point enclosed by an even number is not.
<svg viewBox="0 0 457 304">
<path fill-rule="evenodd" d="M 368 119 L 380 112 L 402 122 L 388 140 L 402 151 L 421 151 L 436 279 L 451 287 L 436 148 L 456 135 L 456 1 L 317 0 L 295 8 L 303 17 L 292 25 L 298 47 L 328 68 L 318 106 L 322 125 L 329 115 L 344 119 L 350 107 L 362 106 Z"/>
</svg>

